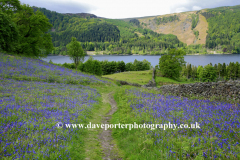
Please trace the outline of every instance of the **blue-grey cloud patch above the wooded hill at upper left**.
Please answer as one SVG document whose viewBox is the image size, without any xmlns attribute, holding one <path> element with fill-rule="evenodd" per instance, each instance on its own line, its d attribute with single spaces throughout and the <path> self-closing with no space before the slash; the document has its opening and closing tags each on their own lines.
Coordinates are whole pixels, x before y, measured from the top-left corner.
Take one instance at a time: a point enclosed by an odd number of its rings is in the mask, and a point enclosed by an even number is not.
<svg viewBox="0 0 240 160">
<path fill-rule="evenodd" d="M 83 5 L 71 1 L 50 1 L 50 0 L 20 0 L 21 3 L 29 4 L 30 6 L 36 6 L 46 8 L 58 13 L 90 13 L 92 6 Z"/>
</svg>

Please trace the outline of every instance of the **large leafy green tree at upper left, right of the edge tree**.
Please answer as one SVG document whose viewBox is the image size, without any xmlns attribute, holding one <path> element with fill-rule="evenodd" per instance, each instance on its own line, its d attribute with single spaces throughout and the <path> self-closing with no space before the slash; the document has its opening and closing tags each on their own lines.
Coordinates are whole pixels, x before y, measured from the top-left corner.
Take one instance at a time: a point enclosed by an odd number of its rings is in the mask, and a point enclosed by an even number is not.
<svg viewBox="0 0 240 160">
<path fill-rule="evenodd" d="M 20 35 L 15 52 L 33 57 L 45 56 L 53 50 L 51 36 L 46 33 L 52 25 L 40 11 L 34 13 L 33 9 L 25 4 L 21 8 L 20 12 L 14 14 L 13 19 Z"/>
</svg>

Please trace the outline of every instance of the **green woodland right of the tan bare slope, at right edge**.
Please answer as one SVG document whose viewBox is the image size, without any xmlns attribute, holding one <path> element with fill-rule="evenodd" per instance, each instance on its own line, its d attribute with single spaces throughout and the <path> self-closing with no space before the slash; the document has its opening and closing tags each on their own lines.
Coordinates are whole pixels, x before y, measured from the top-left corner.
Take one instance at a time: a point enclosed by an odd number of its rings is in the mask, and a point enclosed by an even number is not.
<svg viewBox="0 0 240 160">
<path fill-rule="evenodd" d="M 202 13 L 208 21 L 206 47 L 222 46 L 223 52 L 240 51 L 240 7 L 221 7 Z"/>
</svg>

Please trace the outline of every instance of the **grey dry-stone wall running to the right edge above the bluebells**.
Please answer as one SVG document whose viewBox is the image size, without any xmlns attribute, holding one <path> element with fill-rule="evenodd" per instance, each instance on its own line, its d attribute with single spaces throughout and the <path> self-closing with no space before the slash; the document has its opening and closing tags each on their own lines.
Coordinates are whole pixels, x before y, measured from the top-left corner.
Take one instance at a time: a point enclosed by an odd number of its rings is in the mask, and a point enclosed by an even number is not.
<svg viewBox="0 0 240 160">
<path fill-rule="evenodd" d="M 163 85 L 160 90 L 162 94 L 171 93 L 183 97 L 190 95 L 205 98 L 224 97 L 238 101 L 240 99 L 240 81 Z"/>
</svg>

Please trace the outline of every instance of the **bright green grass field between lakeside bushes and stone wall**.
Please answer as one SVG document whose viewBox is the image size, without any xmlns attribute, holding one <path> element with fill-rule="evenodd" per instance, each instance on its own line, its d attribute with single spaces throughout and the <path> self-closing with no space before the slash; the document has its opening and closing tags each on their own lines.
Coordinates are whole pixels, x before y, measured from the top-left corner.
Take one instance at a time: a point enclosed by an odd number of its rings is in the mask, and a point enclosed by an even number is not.
<svg viewBox="0 0 240 160">
<path fill-rule="evenodd" d="M 148 71 L 126 71 L 122 73 L 115 73 L 111 75 L 104 75 L 103 77 L 111 78 L 113 80 L 122 80 L 130 83 L 138 83 L 140 85 L 147 84 L 152 79 L 152 70 Z"/>
</svg>

